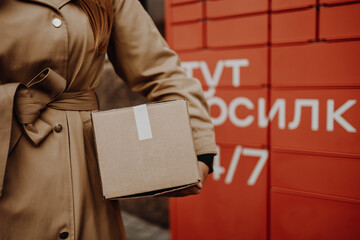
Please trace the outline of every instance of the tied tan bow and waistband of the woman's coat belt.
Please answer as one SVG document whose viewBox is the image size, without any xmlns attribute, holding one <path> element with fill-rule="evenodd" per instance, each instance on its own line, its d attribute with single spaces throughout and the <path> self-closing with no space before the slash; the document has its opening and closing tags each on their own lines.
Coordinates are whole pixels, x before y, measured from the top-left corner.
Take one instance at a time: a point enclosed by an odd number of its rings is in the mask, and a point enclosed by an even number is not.
<svg viewBox="0 0 360 240">
<path fill-rule="evenodd" d="M 15 95 L 15 112 L 23 133 L 33 145 L 38 146 L 52 132 L 52 126 L 41 118 L 41 112 L 45 108 L 76 111 L 98 108 L 94 91 L 64 92 L 65 89 L 66 80 L 49 68 L 18 89 Z M 12 142 L 16 141 L 17 139 Z"/>
</svg>

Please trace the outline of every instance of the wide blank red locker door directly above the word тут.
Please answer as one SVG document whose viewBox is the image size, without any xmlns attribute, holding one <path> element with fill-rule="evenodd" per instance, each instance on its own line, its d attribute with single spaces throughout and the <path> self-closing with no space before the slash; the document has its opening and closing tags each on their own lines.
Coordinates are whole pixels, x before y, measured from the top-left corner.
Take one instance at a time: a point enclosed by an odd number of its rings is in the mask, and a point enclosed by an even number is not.
<svg viewBox="0 0 360 240">
<path fill-rule="evenodd" d="M 265 44 L 268 33 L 266 14 L 207 21 L 208 47 Z"/>
</svg>

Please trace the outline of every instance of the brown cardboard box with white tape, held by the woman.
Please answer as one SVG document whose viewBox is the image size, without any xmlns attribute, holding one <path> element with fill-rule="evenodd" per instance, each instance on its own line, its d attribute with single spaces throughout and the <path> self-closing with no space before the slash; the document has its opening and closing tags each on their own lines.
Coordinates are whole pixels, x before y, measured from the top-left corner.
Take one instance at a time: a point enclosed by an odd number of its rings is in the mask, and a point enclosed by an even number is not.
<svg viewBox="0 0 360 240">
<path fill-rule="evenodd" d="M 185 100 L 92 114 L 106 199 L 160 195 L 200 181 Z"/>
</svg>

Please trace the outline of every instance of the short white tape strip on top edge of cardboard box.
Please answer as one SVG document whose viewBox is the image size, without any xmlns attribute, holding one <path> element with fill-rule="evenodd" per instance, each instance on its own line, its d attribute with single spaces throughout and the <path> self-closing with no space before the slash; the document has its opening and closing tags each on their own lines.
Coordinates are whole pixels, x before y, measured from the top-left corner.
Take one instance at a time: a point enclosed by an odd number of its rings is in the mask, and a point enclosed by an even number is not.
<svg viewBox="0 0 360 240">
<path fill-rule="evenodd" d="M 133 109 L 139 140 L 151 139 L 152 132 L 146 104 L 133 107 Z"/>
</svg>

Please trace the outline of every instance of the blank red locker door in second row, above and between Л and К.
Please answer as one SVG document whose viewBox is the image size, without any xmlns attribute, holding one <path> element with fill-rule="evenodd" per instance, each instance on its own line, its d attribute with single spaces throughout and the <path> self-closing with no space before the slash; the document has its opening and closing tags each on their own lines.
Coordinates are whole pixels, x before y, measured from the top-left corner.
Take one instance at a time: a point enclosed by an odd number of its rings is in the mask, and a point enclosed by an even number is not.
<svg viewBox="0 0 360 240">
<path fill-rule="evenodd" d="M 315 37 L 315 8 L 271 15 L 272 43 L 303 42 L 314 40 Z"/>
</svg>

